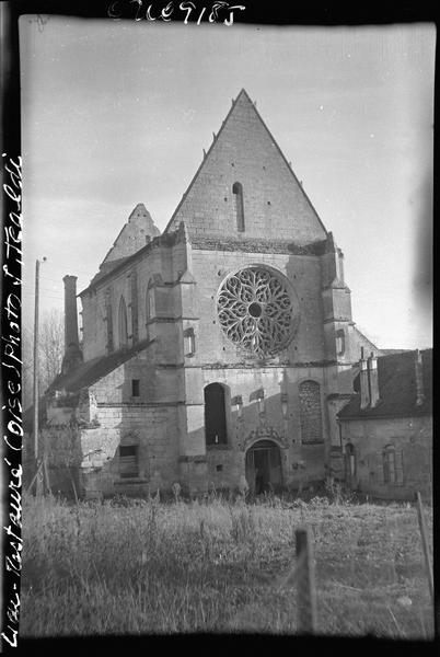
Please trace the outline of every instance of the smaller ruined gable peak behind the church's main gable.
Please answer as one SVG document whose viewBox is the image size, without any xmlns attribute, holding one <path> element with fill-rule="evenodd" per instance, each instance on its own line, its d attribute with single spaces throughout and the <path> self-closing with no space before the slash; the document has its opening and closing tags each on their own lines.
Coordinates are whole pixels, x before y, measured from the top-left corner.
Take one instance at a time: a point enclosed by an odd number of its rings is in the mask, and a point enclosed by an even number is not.
<svg viewBox="0 0 440 657">
<path fill-rule="evenodd" d="M 106 269 L 109 263 L 113 264 L 115 261 L 120 261 L 128 255 L 132 255 L 146 245 L 148 237 L 152 239 L 159 234 L 160 230 L 151 219 L 150 212 L 142 203 L 139 203 L 119 232 L 100 268 Z"/>
</svg>

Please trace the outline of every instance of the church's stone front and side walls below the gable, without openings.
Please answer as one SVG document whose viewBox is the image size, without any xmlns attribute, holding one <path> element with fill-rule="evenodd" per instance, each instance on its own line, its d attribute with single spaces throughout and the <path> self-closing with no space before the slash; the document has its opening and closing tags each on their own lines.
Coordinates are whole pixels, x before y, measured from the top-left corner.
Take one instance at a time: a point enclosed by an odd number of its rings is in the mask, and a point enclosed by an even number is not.
<svg viewBox="0 0 440 657">
<path fill-rule="evenodd" d="M 268 266 L 286 276 L 300 314 L 292 342 L 267 367 L 230 343 L 217 316 L 217 293 L 222 281 L 251 265 Z M 285 486 L 296 488 L 322 481 L 335 434 L 335 417 L 328 414 L 325 400 L 340 388 L 336 366 L 325 360 L 328 350 L 323 327 L 322 276 L 320 256 L 212 252 L 192 249 L 181 240 L 174 247 L 147 251 L 136 267 L 127 266 L 99 284 L 96 306 L 105 301 L 105 291 L 111 290 L 115 346 L 119 299 L 124 295 L 130 309 L 134 290 L 138 337 L 148 336 L 153 342 L 90 388 L 100 426 L 82 431 L 82 448 L 93 452 L 101 445 L 101 456 L 106 456 L 97 469 L 88 462 L 83 464 L 84 491 L 90 495 L 94 489 L 112 494 L 116 486 L 118 491 L 140 494 L 151 486 L 170 488 L 174 481 L 187 491 L 206 491 L 209 486 L 236 488 L 245 474 L 246 450 L 267 438 L 279 446 Z M 152 295 L 152 316 L 147 315 L 148 293 Z M 85 307 L 89 302 L 85 296 Z M 93 319 L 93 312 L 89 318 Z M 128 314 L 130 318 L 130 311 Z M 194 351 L 189 353 L 185 351 L 188 331 L 195 341 Z M 130 326 L 128 333 L 131 334 Z M 104 322 L 97 322 L 94 335 L 95 341 L 91 342 L 96 355 L 101 354 L 97 343 L 106 339 Z M 134 379 L 139 381 L 136 397 Z M 315 427 L 312 445 L 303 443 L 304 427 L 301 433 L 300 385 L 306 381 L 320 387 L 308 415 Z M 211 382 L 220 382 L 227 391 L 228 445 L 222 448 L 206 446 L 204 389 Z M 264 413 L 255 401 L 258 389 L 264 390 Z M 348 389 L 351 390 L 350 378 L 344 384 L 344 390 Z M 285 418 L 281 393 L 288 403 Z M 236 395 L 243 399 L 240 418 L 232 404 Z M 124 482 L 118 477 L 117 448 L 130 429 L 139 435 L 141 466 L 137 480 Z"/>
</svg>

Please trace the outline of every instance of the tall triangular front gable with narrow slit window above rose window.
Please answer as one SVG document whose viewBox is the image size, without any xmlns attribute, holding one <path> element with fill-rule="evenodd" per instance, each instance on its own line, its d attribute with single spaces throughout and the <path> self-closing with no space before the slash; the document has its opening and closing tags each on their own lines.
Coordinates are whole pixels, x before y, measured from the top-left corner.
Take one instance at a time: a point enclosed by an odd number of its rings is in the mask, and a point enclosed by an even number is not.
<svg viewBox="0 0 440 657">
<path fill-rule="evenodd" d="M 165 232 L 286 239 L 302 245 L 326 230 L 255 105 L 242 90 L 204 155 Z"/>
</svg>

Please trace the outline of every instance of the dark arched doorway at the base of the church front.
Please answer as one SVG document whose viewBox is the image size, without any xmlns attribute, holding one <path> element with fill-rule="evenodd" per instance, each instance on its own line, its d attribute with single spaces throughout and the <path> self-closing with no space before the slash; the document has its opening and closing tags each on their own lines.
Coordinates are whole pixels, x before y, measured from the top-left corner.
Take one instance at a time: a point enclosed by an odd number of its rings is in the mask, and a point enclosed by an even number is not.
<svg viewBox="0 0 440 657">
<path fill-rule="evenodd" d="M 282 484 L 281 453 L 271 440 L 258 440 L 246 452 L 246 481 L 255 495 L 277 491 Z"/>
</svg>

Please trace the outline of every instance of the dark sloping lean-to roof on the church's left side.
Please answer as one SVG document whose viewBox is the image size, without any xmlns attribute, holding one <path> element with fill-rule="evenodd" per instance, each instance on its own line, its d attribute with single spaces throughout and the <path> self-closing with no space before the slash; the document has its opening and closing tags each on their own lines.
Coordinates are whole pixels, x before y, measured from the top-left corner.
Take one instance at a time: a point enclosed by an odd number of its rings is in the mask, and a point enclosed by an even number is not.
<svg viewBox="0 0 440 657">
<path fill-rule="evenodd" d="M 58 374 L 47 389 L 47 393 L 55 390 L 66 390 L 66 392 L 79 392 L 81 388 L 88 388 L 108 374 L 139 351 L 147 349 L 153 341 L 143 339 L 129 349 L 120 349 L 108 356 L 99 356 L 83 362 L 78 369 L 68 374 Z"/>
</svg>

